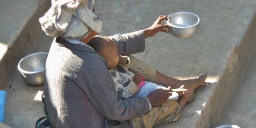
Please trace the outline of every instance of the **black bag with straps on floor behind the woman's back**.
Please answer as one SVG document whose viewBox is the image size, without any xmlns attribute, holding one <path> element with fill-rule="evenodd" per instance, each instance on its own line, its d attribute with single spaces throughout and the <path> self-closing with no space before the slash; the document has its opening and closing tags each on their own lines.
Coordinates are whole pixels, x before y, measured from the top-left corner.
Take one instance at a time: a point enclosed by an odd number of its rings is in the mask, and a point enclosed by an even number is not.
<svg viewBox="0 0 256 128">
<path fill-rule="evenodd" d="M 43 101 L 43 104 L 45 104 L 45 95 L 44 95 L 45 93 L 43 93 L 42 94 L 42 101 Z M 45 114 L 47 115 L 47 116 L 44 116 L 44 117 L 42 117 L 42 118 L 40 118 L 40 119 L 38 119 L 37 121 L 36 121 L 36 126 L 35 126 L 35 128 L 53 128 L 52 127 L 52 125 L 51 125 L 51 123 L 50 123 L 50 119 L 49 119 L 49 116 L 48 116 L 48 111 L 47 111 L 47 108 L 46 108 L 46 105 L 45 105 Z M 42 122 L 42 120 L 43 119 L 45 119 L 43 122 Z M 42 122 L 42 123 L 41 123 Z"/>
</svg>

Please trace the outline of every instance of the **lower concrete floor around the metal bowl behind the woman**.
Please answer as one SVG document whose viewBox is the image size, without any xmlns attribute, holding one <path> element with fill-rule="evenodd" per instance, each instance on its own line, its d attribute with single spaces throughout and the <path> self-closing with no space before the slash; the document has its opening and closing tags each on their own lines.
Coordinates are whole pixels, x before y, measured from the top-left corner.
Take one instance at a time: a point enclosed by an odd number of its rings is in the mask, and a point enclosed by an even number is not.
<svg viewBox="0 0 256 128">
<path fill-rule="evenodd" d="M 43 31 L 39 31 L 38 35 L 40 36 L 33 42 L 34 45 L 31 46 L 28 54 L 49 51 L 53 38 L 45 35 Z M 43 92 L 43 85 L 27 85 L 20 75 L 16 68 L 11 80 L 4 88 L 7 91 L 4 122 L 12 128 L 34 128 L 36 121 L 45 116 L 39 92 Z M 39 95 L 37 99 L 35 99 L 36 94 Z"/>
</svg>

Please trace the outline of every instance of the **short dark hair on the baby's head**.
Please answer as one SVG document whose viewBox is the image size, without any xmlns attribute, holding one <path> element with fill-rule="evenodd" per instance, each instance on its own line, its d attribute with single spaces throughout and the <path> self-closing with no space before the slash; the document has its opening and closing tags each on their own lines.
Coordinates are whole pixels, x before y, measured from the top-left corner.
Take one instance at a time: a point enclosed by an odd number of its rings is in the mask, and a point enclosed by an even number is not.
<svg viewBox="0 0 256 128">
<path fill-rule="evenodd" d="M 101 36 L 94 36 L 89 40 L 87 45 L 92 47 L 96 52 L 102 52 L 105 48 L 107 48 L 108 42 Z"/>
</svg>

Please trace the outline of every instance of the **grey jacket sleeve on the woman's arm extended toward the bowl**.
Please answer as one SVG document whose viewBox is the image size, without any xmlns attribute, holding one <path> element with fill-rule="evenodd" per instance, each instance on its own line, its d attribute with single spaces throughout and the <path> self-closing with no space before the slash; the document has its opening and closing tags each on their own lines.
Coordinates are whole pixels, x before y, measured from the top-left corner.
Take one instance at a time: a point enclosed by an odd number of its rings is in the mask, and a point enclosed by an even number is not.
<svg viewBox="0 0 256 128">
<path fill-rule="evenodd" d="M 118 45 L 118 53 L 120 55 L 130 55 L 145 50 L 145 38 L 143 31 L 135 31 L 132 33 L 109 36 Z"/>
</svg>

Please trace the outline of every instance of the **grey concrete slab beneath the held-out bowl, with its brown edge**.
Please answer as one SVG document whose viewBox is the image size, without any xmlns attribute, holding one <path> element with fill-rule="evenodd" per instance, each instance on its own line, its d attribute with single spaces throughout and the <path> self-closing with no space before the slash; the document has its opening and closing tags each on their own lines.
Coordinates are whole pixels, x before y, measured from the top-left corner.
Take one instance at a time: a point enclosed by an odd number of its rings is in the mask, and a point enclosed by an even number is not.
<svg viewBox="0 0 256 128">
<path fill-rule="evenodd" d="M 158 15 L 168 15 L 176 11 L 194 12 L 201 18 L 199 31 L 195 36 L 180 39 L 159 33 L 148 38 L 145 52 L 136 54 L 135 57 L 161 73 L 178 79 L 195 78 L 199 74 L 208 73 L 206 81 L 211 84 L 196 91 L 195 100 L 183 109 L 182 119 L 161 126 L 206 128 L 213 127 L 216 123 L 220 112 L 227 105 L 219 102 L 229 101 L 242 73 L 242 67 L 246 66 L 240 66 L 238 54 L 235 52 L 238 47 L 235 45 L 240 44 L 240 36 L 244 36 L 242 32 L 247 31 L 246 27 L 255 13 L 255 5 L 255 0 L 111 0 L 95 1 L 95 13 L 103 22 L 105 31 L 101 35 L 144 29 Z M 109 11 L 106 14 L 104 10 Z M 252 37 L 249 40 L 251 41 L 248 42 L 255 44 Z M 233 71 L 236 70 L 238 72 L 234 74 Z M 229 77 L 230 74 L 233 75 Z M 227 92 L 227 97 L 218 97 L 224 92 Z"/>
</svg>

